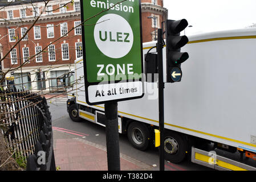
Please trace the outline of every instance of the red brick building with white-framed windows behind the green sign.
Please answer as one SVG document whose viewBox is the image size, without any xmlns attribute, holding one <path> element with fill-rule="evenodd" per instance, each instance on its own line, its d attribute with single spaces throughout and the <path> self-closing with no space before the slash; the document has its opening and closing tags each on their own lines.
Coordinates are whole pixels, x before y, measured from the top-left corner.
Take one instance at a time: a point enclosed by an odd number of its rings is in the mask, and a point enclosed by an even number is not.
<svg viewBox="0 0 256 182">
<path fill-rule="evenodd" d="M 167 18 L 168 11 L 162 7 L 162 1 L 141 0 L 143 42 L 154 40 L 155 30 Z M 45 7 L 43 0 L 0 0 L 1 57 L 32 27 L 1 63 L 5 72 L 26 63 L 22 70 L 7 73 L 6 84 L 13 77 L 18 89 L 22 88 L 22 82 L 23 88 L 35 91 L 51 91 L 68 84 L 65 73 L 72 71 L 74 60 L 83 55 L 82 28 L 71 30 L 81 22 L 80 1 L 69 2 L 51 0 Z M 43 52 L 38 54 L 40 51 Z"/>
</svg>

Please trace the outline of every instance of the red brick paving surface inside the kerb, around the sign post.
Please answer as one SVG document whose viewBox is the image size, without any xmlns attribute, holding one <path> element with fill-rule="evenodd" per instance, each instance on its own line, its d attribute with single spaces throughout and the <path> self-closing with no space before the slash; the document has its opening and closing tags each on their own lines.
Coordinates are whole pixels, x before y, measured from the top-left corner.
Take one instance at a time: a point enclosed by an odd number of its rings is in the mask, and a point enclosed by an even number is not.
<svg viewBox="0 0 256 182">
<path fill-rule="evenodd" d="M 77 139 L 56 139 L 55 163 L 60 171 L 107 171 L 107 152 Z M 121 171 L 145 170 L 120 157 Z"/>
</svg>

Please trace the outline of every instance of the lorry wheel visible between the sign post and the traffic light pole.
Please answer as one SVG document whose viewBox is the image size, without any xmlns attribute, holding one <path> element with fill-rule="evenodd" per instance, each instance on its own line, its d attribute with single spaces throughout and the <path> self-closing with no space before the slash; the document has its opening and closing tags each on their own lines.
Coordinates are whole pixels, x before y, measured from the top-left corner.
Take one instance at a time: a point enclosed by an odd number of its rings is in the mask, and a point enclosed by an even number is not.
<svg viewBox="0 0 256 182">
<path fill-rule="evenodd" d="M 143 123 L 132 122 L 128 126 L 128 139 L 133 147 L 144 151 L 149 146 L 149 130 Z"/>
</svg>

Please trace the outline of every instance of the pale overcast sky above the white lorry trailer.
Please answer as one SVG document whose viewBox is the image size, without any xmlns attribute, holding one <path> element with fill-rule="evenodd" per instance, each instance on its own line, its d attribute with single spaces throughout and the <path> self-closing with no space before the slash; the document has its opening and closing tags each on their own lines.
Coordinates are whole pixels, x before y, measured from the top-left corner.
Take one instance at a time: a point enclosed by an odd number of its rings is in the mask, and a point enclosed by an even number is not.
<svg viewBox="0 0 256 182">
<path fill-rule="evenodd" d="M 245 28 L 256 23 L 256 0 L 164 0 L 168 19 L 185 18 L 186 35 Z"/>
</svg>

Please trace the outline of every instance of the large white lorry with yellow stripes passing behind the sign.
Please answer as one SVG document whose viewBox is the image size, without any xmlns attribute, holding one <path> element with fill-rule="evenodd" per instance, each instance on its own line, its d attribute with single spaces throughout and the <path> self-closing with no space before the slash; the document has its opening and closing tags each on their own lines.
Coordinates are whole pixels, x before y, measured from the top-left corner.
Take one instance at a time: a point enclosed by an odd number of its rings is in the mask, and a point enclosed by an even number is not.
<svg viewBox="0 0 256 182">
<path fill-rule="evenodd" d="M 153 46 L 156 42 L 144 43 L 144 55 Z M 165 83 L 166 160 L 179 163 L 190 156 L 192 162 L 214 169 L 256 170 L 255 48 L 256 28 L 189 36 L 181 49 L 189 53 L 181 65 L 181 82 Z M 104 105 L 86 104 L 83 75 L 83 59 L 78 59 L 67 111 L 73 121 L 83 118 L 104 126 Z M 127 134 L 139 150 L 154 143 L 159 125 L 157 82 L 144 84 L 143 98 L 118 103 L 119 133 Z M 224 157 L 220 151 L 240 158 Z"/>
</svg>

